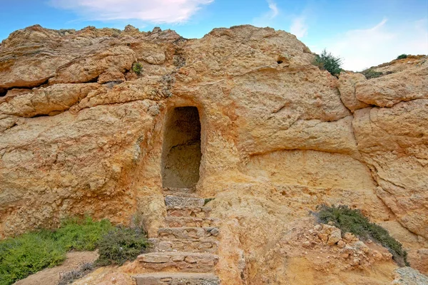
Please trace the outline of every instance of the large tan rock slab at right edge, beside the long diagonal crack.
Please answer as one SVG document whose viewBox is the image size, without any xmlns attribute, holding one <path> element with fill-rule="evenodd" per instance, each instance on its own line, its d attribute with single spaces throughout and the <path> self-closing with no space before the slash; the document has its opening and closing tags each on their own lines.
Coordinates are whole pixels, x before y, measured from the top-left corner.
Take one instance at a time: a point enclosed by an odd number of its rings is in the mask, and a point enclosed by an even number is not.
<svg viewBox="0 0 428 285">
<path fill-rule="evenodd" d="M 362 157 L 377 181 L 377 196 L 411 232 L 428 238 L 428 100 L 355 112 Z"/>
</svg>

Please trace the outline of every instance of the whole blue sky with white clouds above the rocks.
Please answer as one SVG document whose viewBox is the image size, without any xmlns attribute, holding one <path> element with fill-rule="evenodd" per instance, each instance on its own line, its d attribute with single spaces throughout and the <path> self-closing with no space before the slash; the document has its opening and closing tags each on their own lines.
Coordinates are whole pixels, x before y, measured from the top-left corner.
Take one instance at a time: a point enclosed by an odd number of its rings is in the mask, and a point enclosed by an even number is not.
<svg viewBox="0 0 428 285">
<path fill-rule="evenodd" d="M 428 0 L 0 0 L 0 40 L 19 28 L 171 28 L 201 38 L 216 27 L 271 26 L 311 51 L 363 68 L 428 53 Z"/>
</svg>

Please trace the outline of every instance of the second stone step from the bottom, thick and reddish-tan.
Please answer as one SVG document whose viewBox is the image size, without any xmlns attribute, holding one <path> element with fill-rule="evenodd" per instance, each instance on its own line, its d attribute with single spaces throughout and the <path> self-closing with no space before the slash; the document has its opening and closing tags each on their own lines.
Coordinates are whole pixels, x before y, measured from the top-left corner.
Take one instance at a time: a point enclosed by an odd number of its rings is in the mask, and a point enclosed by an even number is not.
<svg viewBox="0 0 428 285">
<path fill-rule="evenodd" d="M 153 271 L 212 272 L 218 255 L 199 252 L 151 252 L 137 257 L 144 269 Z"/>
</svg>

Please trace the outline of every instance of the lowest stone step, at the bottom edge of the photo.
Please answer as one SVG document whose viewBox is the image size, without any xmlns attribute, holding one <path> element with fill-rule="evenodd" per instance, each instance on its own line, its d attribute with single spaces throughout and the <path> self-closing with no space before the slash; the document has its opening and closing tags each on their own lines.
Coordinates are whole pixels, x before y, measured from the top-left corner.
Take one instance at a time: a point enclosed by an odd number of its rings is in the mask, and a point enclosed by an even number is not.
<svg viewBox="0 0 428 285">
<path fill-rule="evenodd" d="M 156 272 L 133 276 L 136 285 L 220 285 L 220 279 L 209 273 Z"/>
</svg>

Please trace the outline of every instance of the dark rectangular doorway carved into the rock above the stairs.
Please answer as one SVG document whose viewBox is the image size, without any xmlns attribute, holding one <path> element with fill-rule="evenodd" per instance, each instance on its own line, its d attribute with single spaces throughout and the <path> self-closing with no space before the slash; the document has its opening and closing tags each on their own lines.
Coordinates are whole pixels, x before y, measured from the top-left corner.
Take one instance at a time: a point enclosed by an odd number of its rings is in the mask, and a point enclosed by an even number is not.
<svg viewBox="0 0 428 285">
<path fill-rule="evenodd" d="M 177 107 L 170 110 L 163 138 L 163 187 L 194 187 L 199 180 L 201 157 L 198 108 Z"/>
</svg>

